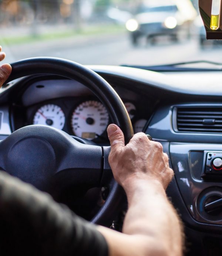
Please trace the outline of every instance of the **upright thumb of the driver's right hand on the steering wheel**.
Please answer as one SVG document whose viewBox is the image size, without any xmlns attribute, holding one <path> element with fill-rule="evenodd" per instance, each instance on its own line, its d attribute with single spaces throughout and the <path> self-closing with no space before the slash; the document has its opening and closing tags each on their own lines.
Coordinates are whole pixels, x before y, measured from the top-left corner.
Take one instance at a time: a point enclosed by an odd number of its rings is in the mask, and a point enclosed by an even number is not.
<svg viewBox="0 0 222 256">
<path fill-rule="evenodd" d="M 124 135 L 121 129 L 117 125 L 110 124 L 107 128 L 107 133 L 108 133 L 112 150 L 125 146 Z"/>
</svg>

